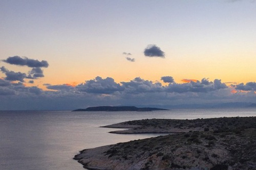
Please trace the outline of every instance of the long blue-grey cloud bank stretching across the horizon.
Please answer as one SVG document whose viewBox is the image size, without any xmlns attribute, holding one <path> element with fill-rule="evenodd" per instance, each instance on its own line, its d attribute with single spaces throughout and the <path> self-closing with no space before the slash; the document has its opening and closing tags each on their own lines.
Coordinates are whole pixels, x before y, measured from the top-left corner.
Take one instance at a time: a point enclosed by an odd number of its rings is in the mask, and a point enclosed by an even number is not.
<svg viewBox="0 0 256 170">
<path fill-rule="evenodd" d="M 173 77 L 164 76 L 161 80 L 167 85 L 140 77 L 119 83 L 110 77 L 96 77 L 76 86 L 45 84 L 49 90 L 43 90 L 35 86 L 26 87 L 22 81 L 0 79 L 0 99 L 3 101 L 0 109 L 75 109 L 100 105 L 174 106 L 256 102 L 255 82 L 227 86 L 219 79 L 210 81 L 203 78 L 201 81 L 177 83 Z"/>
</svg>

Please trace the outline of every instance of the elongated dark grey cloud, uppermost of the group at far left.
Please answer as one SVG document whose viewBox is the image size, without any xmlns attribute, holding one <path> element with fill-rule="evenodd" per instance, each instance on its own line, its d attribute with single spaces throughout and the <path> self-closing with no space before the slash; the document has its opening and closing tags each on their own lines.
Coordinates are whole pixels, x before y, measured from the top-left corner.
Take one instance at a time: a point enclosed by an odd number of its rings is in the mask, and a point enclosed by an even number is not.
<svg viewBox="0 0 256 170">
<path fill-rule="evenodd" d="M 13 56 L 8 57 L 6 60 L 3 60 L 5 63 L 13 64 L 13 65 L 22 65 L 22 66 L 28 66 L 28 67 L 48 67 L 49 64 L 47 61 L 38 61 L 34 59 L 29 59 L 27 57 L 19 57 L 19 56 Z"/>
</svg>

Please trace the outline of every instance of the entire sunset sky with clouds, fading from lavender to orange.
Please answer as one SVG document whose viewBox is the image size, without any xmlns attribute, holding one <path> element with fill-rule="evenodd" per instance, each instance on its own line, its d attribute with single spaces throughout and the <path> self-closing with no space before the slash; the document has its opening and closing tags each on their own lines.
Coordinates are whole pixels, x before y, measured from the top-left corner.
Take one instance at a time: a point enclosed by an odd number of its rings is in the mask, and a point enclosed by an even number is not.
<svg viewBox="0 0 256 170">
<path fill-rule="evenodd" d="M 1 0 L 0 110 L 256 103 L 254 0 Z"/>
</svg>

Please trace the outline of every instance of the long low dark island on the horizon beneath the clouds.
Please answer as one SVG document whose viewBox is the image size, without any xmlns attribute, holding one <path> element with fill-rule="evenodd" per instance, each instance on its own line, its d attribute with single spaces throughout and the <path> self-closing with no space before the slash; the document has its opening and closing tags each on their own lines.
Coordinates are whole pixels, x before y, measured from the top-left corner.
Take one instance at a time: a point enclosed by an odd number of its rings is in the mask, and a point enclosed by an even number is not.
<svg viewBox="0 0 256 170">
<path fill-rule="evenodd" d="M 122 111 L 133 111 L 133 112 L 150 112 L 150 111 L 168 111 L 169 109 L 154 108 L 154 107 L 135 107 L 135 106 L 97 106 L 88 107 L 86 109 L 79 108 L 72 112 L 122 112 Z"/>
</svg>

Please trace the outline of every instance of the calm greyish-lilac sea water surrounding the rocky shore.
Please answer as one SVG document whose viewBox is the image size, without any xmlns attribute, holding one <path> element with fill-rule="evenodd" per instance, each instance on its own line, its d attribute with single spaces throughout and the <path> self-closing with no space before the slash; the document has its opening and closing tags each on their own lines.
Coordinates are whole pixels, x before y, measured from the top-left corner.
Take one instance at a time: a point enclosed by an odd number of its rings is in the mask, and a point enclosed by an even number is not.
<svg viewBox="0 0 256 170">
<path fill-rule="evenodd" d="M 111 134 L 99 126 L 146 118 L 256 116 L 256 109 L 173 109 L 157 112 L 0 111 L 1 170 L 82 170 L 79 150 L 157 134 Z"/>
</svg>

